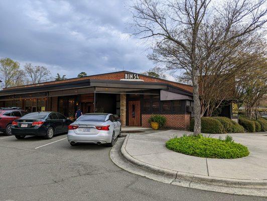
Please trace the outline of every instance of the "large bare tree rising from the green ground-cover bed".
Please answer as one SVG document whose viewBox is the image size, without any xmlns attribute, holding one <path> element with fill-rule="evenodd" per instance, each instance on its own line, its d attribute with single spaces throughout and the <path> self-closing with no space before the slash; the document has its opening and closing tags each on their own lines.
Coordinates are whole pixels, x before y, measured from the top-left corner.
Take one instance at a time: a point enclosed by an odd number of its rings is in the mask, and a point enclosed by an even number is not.
<svg viewBox="0 0 267 201">
<path fill-rule="evenodd" d="M 266 22 L 264 0 L 229 0 L 224 5 L 216 5 L 216 9 L 210 3 L 211 0 L 138 0 L 132 6 L 135 34 L 152 43 L 154 52 L 149 58 L 168 69 L 184 69 L 191 76 L 194 135 L 201 132 L 200 69 L 217 61 L 219 55 L 214 52 L 223 51 L 228 44 L 238 42 Z M 215 28 L 215 35 L 206 36 L 205 30 L 212 28 L 210 24 Z M 205 37 L 211 40 L 203 40 Z M 209 43 L 202 52 L 198 44 L 204 41 Z"/>
</svg>

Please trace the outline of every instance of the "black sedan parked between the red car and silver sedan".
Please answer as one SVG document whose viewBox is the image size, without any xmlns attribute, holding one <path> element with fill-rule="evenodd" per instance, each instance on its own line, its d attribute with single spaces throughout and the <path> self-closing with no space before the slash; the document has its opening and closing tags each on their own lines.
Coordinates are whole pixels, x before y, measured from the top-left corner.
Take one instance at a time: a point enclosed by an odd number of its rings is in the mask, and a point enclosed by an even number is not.
<svg viewBox="0 0 267 201">
<path fill-rule="evenodd" d="M 12 134 L 17 139 L 27 135 L 44 136 L 51 139 L 55 134 L 67 133 L 71 120 L 55 112 L 35 112 L 12 122 Z"/>
</svg>

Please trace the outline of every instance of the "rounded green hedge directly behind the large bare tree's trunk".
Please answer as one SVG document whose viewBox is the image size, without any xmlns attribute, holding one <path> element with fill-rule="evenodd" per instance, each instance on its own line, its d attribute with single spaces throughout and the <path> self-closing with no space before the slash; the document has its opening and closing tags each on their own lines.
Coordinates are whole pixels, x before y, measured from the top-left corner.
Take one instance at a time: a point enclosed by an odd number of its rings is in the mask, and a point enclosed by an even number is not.
<svg viewBox="0 0 267 201">
<path fill-rule="evenodd" d="M 194 123 L 195 119 L 192 118 L 189 126 L 190 131 L 194 131 Z M 211 134 L 223 133 L 223 126 L 218 120 L 212 117 L 201 117 L 201 132 Z"/>
</svg>

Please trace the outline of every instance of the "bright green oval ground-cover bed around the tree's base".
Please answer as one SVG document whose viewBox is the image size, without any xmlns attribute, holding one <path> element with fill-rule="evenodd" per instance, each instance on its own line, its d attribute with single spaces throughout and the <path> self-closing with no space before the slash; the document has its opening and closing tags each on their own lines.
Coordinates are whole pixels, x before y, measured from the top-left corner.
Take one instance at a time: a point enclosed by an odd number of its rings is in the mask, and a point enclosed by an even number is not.
<svg viewBox="0 0 267 201">
<path fill-rule="evenodd" d="M 198 136 L 183 136 L 166 142 L 172 151 L 206 158 L 241 158 L 248 156 L 247 147 L 234 143 L 230 136 L 226 140 Z"/>
</svg>

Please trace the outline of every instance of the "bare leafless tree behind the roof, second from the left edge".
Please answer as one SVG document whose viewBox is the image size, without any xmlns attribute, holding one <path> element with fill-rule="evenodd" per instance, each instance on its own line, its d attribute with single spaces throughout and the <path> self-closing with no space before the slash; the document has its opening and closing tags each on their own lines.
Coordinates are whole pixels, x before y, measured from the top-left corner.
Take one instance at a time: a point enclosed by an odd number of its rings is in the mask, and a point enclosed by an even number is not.
<svg viewBox="0 0 267 201">
<path fill-rule="evenodd" d="M 51 79 L 51 72 L 44 66 L 33 66 L 31 63 L 26 63 L 24 70 L 31 84 L 45 82 Z"/>
</svg>

